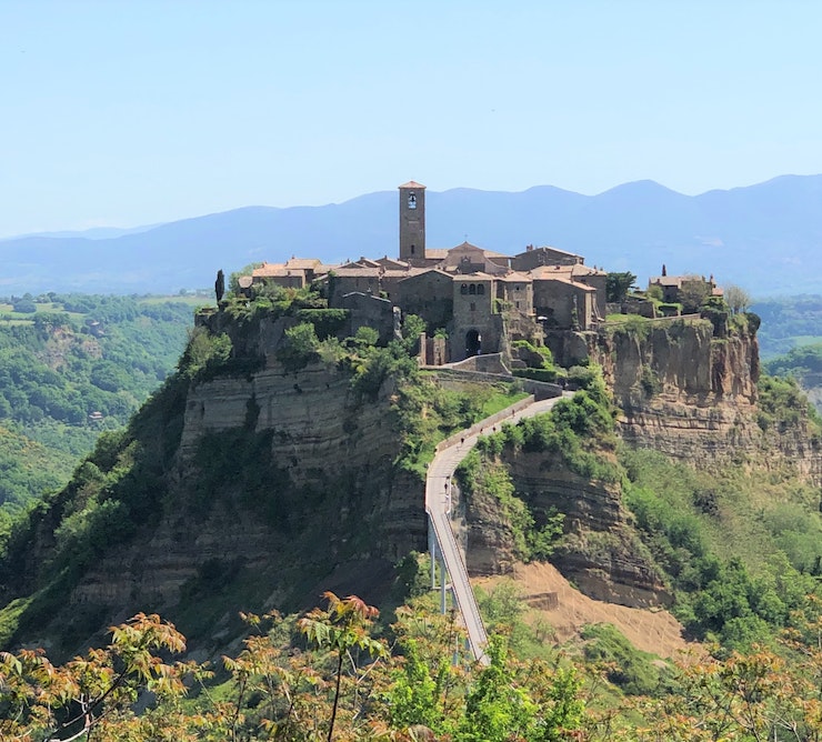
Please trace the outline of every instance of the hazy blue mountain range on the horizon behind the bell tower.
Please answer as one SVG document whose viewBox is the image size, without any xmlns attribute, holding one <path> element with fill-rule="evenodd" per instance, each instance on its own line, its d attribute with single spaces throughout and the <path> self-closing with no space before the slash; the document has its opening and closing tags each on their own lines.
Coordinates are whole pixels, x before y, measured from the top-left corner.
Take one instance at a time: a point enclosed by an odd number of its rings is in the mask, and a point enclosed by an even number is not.
<svg viewBox="0 0 822 742">
<path fill-rule="evenodd" d="M 253 261 L 292 254 L 325 262 L 398 252 L 397 192 L 344 203 L 248 207 L 137 228 L 100 239 L 29 235 L 0 242 L 0 295 L 44 291 L 176 292 L 211 285 Z M 683 195 L 652 181 L 582 195 L 551 186 L 520 193 L 430 191 L 429 247 L 468 238 L 500 252 L 551 244 L 589 265 L 712 272 L 756 297 L 822 293 L 822 176 L 783 176 L 728 191 Z M 97 238 L 97 239 L 92 239 Z"/>
</svg>

